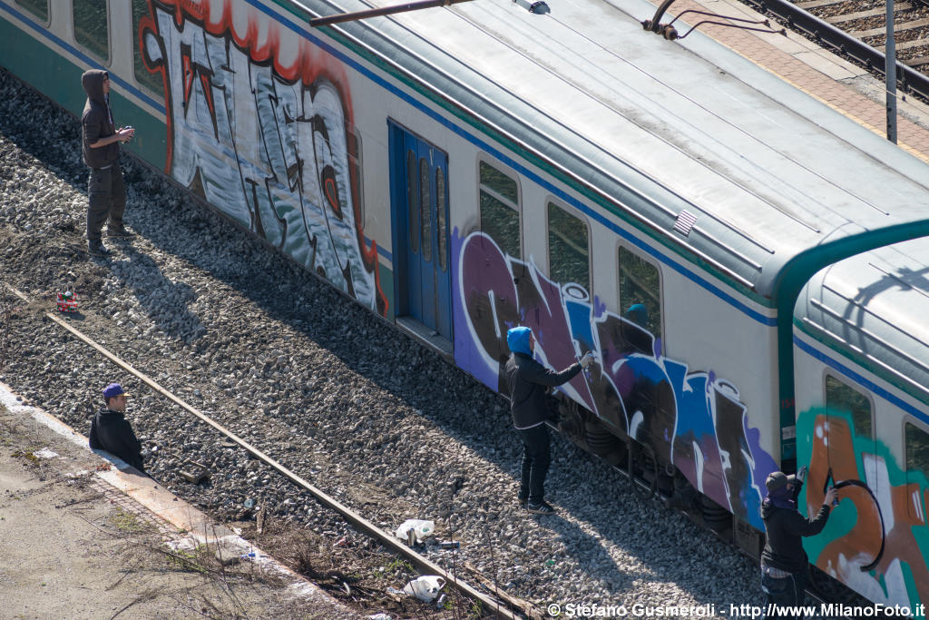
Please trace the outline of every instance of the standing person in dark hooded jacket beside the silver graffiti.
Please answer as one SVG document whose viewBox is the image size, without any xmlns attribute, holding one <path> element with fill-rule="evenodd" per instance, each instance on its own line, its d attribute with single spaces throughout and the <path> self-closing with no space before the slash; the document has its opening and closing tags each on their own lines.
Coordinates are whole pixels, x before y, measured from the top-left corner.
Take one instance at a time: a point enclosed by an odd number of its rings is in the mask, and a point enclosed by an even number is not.
<svg viewBox="0 0 929 620">
<path fill-rule="evenodd" d="M 110 109 L 110 74 L 98 69 L 86 71 L 81 85 L 87 93 L 81 133 L 84 143 L 84 163 L 90 168 L 87 182 L 87 252 L 105 257 L 110 251 L 101 241 L 103 222 L 108 237 L 132 237 L 123 223 L 125 185 L 119 165 L 119 144 L 136 135 L 132 127 L 117 129 Z"/>
</svg>

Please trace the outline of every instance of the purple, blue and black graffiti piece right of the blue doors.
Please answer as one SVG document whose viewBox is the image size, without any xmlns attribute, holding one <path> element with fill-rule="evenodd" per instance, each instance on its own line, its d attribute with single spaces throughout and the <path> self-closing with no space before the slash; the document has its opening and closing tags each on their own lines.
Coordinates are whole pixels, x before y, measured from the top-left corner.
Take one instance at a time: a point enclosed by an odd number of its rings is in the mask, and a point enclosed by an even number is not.
<svg viewBox="0 0 929 620">
<path fill-rule="evenodd" d="M 455 235 L 455 361 L 502 389 L 506 330 L 527 325 L 536 357 L 565 368 L 594 351 L 595 363 L 563 389 L 608 425 L 667 455 L 697 489 L 755 527 L 765 478 L 776 468 L 748 423 L 739 391 L 713 372 L 688 372 L 661 354 L 661 340 L 606 310 L 578 284 L 546 278 L 530 260 L 504 256 L 482 232 Z"/>
</svg>

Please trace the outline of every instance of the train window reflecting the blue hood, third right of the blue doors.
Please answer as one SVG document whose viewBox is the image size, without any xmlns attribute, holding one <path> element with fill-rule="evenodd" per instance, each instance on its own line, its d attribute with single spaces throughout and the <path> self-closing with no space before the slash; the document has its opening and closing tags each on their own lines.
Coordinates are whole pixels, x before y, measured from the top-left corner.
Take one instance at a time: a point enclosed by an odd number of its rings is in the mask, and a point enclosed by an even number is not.
<svg viewBox="0 0 929 620">
<path fill-rule="evenodd" d="M 645 258 L 620 246 L 622 316 L 661 337 L 661 272 Z"/>
</svg>

